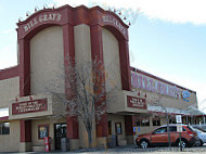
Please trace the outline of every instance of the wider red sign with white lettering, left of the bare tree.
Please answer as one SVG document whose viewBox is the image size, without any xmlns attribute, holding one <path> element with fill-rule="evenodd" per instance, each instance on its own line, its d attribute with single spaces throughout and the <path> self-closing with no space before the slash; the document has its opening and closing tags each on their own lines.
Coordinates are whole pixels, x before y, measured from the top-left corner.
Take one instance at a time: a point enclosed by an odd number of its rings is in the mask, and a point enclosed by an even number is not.
<svg viewBox="0 0 206 154">
<path fill-rule="evenodd" d="M 33 100 L 12 104 L 12 115 L 48 111 L 48 100 Z"/>
</svg>

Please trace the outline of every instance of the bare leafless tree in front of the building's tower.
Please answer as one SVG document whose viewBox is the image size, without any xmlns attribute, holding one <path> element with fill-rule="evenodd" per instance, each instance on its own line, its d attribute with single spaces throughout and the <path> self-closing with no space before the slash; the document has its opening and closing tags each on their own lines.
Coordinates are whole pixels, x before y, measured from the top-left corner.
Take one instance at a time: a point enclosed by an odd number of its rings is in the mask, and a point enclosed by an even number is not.
<svg viewBox="0 0 206 154">
<path fill-rule="evenodd" d="M 105 88 L 105 79 L 110 80 L 110 77 L 105 73 L 102 63 L 96 60 L 78 63 L 69 60 L 68 63 L 64 79 L 69 91 L 65 94 L 52 92 L 56 98 L 57 105 L 55 105 L 55 110 L 59 111 L 55 116 L 78 117 L 78 120 L 83 123 L 89 147 L 91 147 L 94 125 L 105 114 L 106 100 L 112 95 L 110 94 L 112 90 L 106 92 Z M 111 86 L 114 89 L 115 86 L 112 81 Z"/>
</svg>

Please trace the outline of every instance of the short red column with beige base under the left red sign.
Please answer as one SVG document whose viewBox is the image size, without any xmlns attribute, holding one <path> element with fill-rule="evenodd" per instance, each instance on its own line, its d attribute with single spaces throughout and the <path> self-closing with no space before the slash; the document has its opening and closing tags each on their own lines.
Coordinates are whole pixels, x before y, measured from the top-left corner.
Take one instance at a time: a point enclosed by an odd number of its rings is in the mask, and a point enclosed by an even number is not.
<svg viewBox="0 0 206 154">
<path fill-rule="evenodd" d="M 21 143 L 20 151 L 27 152 L 31 150 L 31 120 L 20 120 Z"/>
</svg>

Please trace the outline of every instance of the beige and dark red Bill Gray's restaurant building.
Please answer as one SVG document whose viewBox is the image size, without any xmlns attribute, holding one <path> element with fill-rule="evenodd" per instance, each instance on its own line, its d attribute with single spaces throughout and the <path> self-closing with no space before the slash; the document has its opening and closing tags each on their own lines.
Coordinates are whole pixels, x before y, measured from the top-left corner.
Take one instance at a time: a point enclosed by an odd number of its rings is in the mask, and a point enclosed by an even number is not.
<svg viewBox="0 0 206 154">
<path fill-rule="evenodd" d="M 115 13 L 83 5 L 43 9 L 17 23 L 18 65 L 0 70 L 0 151 L 43 151 L 46 136 L 51 150 L 61 149 L 61 138 L 69 139 L 70 150 L 88 146 L 81 121 L 51 118 L 55 97 L 44 87 L 54 79 L 59 87 L 50 88 L 69 94 L 62 79 L 68 59 L 102 62 L 117 87 L 117 99 L 93 129 L 93 146 L 106 146 L 113 136 L 118 145 L 133 143 L 136 133 L 164 125 L 157 115 L 166 112 L 192 120 L 188 108 L 197 108 L 195 91 L 130 67 L 128 28 Z M 108 91 L 104 80 L 101 88 Z"/>
</svg>

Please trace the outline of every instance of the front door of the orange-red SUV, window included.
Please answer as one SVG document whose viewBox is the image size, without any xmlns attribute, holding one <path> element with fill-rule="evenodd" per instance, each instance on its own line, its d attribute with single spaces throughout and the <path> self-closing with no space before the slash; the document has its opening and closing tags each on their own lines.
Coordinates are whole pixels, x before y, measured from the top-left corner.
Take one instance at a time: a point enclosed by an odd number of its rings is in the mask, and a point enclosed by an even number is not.
<svg viewBox="0 0 206 154">
<path fill-rule="evenodd" d="M 165 144 L 168 142 L 167 127 L 160 127 L 151 134 L 152 144 Z"/>
</svg>

